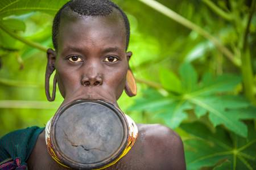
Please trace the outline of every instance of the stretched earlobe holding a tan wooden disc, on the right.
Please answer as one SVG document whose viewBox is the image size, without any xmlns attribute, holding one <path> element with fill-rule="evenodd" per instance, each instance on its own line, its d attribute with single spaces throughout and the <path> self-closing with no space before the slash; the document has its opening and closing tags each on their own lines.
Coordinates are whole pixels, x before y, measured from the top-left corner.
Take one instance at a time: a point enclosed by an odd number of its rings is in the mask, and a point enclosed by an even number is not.
<svg viewBox="0 0 256 170">
<path fill-rule="evenodd" d="M 129 69 L 126 74 L 125 92 L 128 96 L 133 97 L 137 95 L 137 85 L 131 70 Z"/>
</svg>

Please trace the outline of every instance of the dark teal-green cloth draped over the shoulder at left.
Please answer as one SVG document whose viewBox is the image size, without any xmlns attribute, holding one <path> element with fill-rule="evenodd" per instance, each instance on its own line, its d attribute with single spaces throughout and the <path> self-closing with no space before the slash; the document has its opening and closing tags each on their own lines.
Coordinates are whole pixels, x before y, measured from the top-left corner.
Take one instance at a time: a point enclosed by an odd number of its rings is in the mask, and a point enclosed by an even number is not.
<svg viewBox="0 0 256 170">
<path fill-rule="evenodd" d="M 0 139 L 0 164 L 6 159 L 19 158 L 21 165 L 27 160 L 44 128 L 33 126 L 6 134 Z"/>
</svg>

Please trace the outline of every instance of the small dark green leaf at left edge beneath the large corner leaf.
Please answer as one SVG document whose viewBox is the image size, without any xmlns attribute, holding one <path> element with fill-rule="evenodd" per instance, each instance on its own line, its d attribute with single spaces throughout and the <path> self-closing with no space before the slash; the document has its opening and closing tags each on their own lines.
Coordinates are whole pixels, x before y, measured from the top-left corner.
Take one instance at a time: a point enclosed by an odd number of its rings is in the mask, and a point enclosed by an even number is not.
<svg viewBox="0 0 256 170">
<path fill-rule="evenodd" d="M 26 25 L 23 21 L 18 19 L 5 19 L 2 24 L 11 31 L 25 31 Z"/>
</svg>

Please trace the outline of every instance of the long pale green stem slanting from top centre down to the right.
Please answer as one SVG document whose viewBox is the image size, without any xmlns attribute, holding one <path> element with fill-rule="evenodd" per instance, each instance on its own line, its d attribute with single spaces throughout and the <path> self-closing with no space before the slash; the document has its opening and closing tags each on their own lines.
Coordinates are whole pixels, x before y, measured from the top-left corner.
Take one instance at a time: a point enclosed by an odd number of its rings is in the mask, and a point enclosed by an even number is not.
<svg viewBox="0 0 256 170">
<path fill-rule="evenodd" d="M 241 62 L 234 57 L 234 54 L 230 52 L 228 48 L 222 45 L 221 42 L 218 39 L 216 39 L 216 37 L 210 35 L 210 33 L 205 31 L 203 28 L 199 27 L 195 23 L 192 23 L 190 20 L 185 19 L 183 16 L 177 14 L 176 12 L 172 11 L 170 8 L 167 8 L 166 6 L 162 5 L 159 2 L 156 2 L 155 0 L 138 0 L 138 1 L 145 3 L 146 5 L 154 8 L 156 11 L 159 11 L 162 14 L 168 16 L 168 18 L 175 20 L 177 23 L 180 23 L 181 25 L 184 25 L 185 27 L 192 29 L 193 31 L 199 33 L 199 35 L 212 41 L 213 44 L 217 47 L 217 49 L 220 50 L 220 52 L 223 53 L 235 66 L 237 67 L 241 66 Z"/>
</svg>

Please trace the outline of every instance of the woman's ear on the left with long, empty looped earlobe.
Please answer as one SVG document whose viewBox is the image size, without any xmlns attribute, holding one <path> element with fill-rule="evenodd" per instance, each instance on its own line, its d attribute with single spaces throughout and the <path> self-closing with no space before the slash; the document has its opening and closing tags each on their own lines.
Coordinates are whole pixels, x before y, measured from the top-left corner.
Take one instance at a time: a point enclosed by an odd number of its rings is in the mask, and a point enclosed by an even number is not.
<svg viewBox="0 0 256 170">
<path fill-rule="evenodd" d="M 54 75 L 53 78 L 53 90 L 52 90 L 52 96 L 50 95 L 49 92 L 49 79 L 55 70 L 54 67 L 54 62 L 55 62 L 55 57 L 56 53 L 52 49 L 47 50 L 47 66 L 46 66 L 46 77 L 45 77 L 45 90 L 46 90 L 46 97 L 48 101 L 53 101 L 55 100 L 55 94 L 56 94 L 56 84 L 57 84 L 57 79 L 56 75 Z"/>
</svg>

